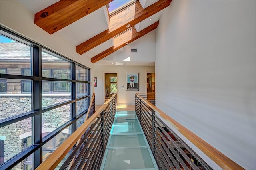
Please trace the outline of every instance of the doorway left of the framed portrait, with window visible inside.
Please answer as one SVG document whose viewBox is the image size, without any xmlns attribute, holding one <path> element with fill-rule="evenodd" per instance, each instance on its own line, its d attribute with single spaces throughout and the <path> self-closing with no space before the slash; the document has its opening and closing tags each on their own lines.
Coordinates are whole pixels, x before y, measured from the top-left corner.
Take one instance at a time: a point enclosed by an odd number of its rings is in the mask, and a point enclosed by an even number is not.
<svg viewBox="0 0 256 170">
<path fill-rule="evenodd" d="M 117 73 L 105 73 L 105 101 L 117 93 Z"/>
</svg>

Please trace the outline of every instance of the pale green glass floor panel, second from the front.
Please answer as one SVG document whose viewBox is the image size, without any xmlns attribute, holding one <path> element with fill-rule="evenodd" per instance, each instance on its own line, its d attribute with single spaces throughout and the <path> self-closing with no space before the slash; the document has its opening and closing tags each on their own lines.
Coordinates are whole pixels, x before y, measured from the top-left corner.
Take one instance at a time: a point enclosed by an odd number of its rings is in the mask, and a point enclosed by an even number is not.
<svg viewBox="0 0 256 170">
<path fill-rule="evenodd" d="M 109 148 L 147 146 L 143 134 L 110 135 Z"/>
</svg>

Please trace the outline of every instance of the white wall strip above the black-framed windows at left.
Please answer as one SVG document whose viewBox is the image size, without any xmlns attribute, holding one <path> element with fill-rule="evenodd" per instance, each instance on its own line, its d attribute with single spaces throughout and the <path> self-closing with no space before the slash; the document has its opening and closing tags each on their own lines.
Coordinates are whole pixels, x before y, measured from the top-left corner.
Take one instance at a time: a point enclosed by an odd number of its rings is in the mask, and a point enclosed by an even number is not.
<svg viewBox="0 0 256 170">
<path fill-rule="evenodd" d="M 48 34 L 34 24 L 34 14 L 30 12 L 19 0 L 1 0 L 0 22 L 18 34 L 40 43 L 62 55 L 77 61 L 87 67 L 93 68 L 90 58 L 85 54 L 76 53 L 76 47 L 60 34 Z"/>
</svg>

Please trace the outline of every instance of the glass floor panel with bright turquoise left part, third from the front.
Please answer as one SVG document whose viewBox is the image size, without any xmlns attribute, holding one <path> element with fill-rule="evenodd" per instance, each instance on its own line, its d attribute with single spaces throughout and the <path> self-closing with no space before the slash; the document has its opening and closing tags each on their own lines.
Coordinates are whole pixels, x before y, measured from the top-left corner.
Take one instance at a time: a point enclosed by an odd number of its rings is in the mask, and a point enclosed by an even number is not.
<svg viewBox="0 0 256 170">
<path fill-rule="evenodd" d="M 110 134 L 116 133 L 141 133 L 140 125 L 114 125 Z"/>
</svg>

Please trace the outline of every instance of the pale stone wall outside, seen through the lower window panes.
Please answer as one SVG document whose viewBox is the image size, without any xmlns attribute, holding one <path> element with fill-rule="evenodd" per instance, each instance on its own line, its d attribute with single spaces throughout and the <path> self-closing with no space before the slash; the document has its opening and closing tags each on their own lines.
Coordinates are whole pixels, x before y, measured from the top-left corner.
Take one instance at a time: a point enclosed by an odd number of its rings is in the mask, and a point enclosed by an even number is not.
<svg viewBox="0 0 256 170">
<path fill-rule="evenodd" d="M 43 96 L 42 107 L 70 100 L 70 96 Z M 21 113 L 31 111 L 31 96 L 1 96 L 0 97 L 0 118 L 5 119 Z M 77 101 L 77 112 L 82 113 L 87 109 L 87 99 Z M 85 118 L 85 116 L 84 116 Z M 42 114 L 43 128 L 58 128 L 70 118 L 70 104 L 58 107 Z M 24 119 L 11 125 L 1 127 L 0 135 L 6 136 L 4 140 L 4 161 L 9 160 L 25 149 L 24 136 L 29 137 L 32 131 L 32 119 Z M 77 124 L 84 121 L 80 119 Z M 30 142 L 29 142 L 30 143 Z M 24 162 L 17 164 L 14 169 L 23 169 Z"/>
</svg>

